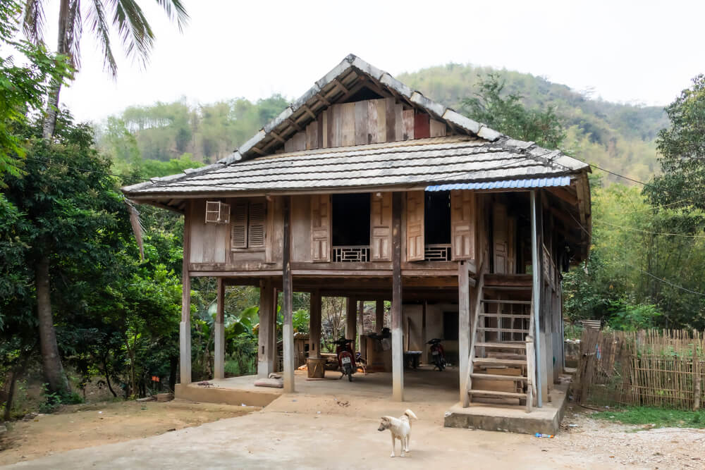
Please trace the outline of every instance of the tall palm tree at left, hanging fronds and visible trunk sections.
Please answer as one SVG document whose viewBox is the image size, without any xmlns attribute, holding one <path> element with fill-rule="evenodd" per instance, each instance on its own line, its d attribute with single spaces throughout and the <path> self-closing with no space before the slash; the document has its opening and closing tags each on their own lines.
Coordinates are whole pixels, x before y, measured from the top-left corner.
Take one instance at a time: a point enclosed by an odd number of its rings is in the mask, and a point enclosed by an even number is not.
<svg viewBox="0 0 705 470">
<path fill-rule="evenodd" d="M 157 0 L 166 16 L 176 21 L 179 31 L 188 22 L 188 13 L 180 0 Z M 44 44 L 43 0 L 25 0 L 23 31 L 30 42 Z M 142 13 L 137 0 L 59 0 L 59 40 L 56 53 L 68 58 L 74 70 L 80 68 L 80 39 L 84 26 L 92 32 L 103 53 L 103 66 L 115 78 L 117 63 L 111 44 L 111 28 L 118 34 L 128 58 L 137 58 L 142 65 L 147 63 L 149 53 L 154 46 L 154 32 Z M 54 137 L 56 113 L 59 111 L 59 93 L 62 80 L 51 80 L 47 111 L 44 114 L 42 135 L 44 139 Z M 49 277 L 50 250 L 39 250 L 42 254 L 35 266 L 35 285 L 37 288 L 37 320 L 39 325 L 39 343 L 42 350 L 42 368 L 51 392 L 65 395 L 68 381 L 63 373 L 59 347 L 56 343 L 56 331 L 51 311 L 51 286 Z"/>
</svg>

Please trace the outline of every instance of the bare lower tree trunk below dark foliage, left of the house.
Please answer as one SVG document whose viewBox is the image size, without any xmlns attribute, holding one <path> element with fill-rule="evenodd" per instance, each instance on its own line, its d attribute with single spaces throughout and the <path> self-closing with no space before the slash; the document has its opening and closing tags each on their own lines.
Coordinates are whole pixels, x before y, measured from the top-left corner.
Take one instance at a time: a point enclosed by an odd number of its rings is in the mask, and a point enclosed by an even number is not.
<svg viewBox="0 0 705 470">
<path fill-rule="evenodd" d="M 68 394 L 68 380 L 63 373 L 59 345 L 56 343 L 54 318 L 51 314 L 51 296 L 49 294 L 49 256 L 42 255 L 37 261 L 35 283 L 37 286 L 37 321 L 39 322 L 39 345 L 42 350 L 42 368 L 44 378 L 49 383 L 49 391 Z"/>
</svg>

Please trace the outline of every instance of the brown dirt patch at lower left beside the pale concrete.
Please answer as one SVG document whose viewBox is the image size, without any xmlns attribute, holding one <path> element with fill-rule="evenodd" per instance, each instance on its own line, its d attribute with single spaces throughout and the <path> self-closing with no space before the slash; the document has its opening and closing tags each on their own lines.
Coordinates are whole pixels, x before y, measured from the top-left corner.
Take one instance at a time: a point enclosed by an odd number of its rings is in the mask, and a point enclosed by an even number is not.
<svg viewBox="0 0 705 470">
<path fill-rule="evenodd" d="M 0 434 L 0 465 L 83 447 L 146 438 L 255 411 L 226 404 L 99 402 L 63 407 L 30 421 L 7 423 Z"/>
</svg>

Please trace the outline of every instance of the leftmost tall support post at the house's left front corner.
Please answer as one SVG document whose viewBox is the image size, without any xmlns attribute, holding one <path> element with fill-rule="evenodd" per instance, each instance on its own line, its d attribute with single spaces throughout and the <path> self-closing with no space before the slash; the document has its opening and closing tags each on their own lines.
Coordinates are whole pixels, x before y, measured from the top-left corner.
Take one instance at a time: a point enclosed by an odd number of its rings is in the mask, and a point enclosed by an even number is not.
<svg viewBox="0 0 705 470">
<path fill-rule="evenodd" d="M 190 204 L 183 221 L 183 264 L 181 266 L 181 323 L 179 324 L 180 382 L 191 383 L 191 278 L 188 273 L 191 245 Z"/>
</svg>

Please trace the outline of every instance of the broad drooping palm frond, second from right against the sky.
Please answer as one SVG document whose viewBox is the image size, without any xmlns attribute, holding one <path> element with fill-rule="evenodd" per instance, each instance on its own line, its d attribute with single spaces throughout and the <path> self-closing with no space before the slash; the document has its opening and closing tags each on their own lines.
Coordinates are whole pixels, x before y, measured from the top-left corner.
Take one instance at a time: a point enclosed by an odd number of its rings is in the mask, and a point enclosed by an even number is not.
<svg viewBox="0 0 705 470">
<path fill-rule="evenodd" d="M 125 47 L 125 55 L 137 58 L 141 66 L 147 64 L 154 46 L 154 32 L 135 0 L 111 0 L 114 9 L 113 24 Z"/>
</svg>

